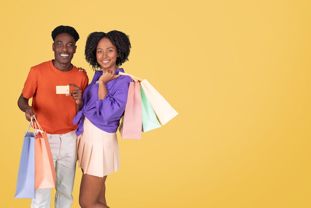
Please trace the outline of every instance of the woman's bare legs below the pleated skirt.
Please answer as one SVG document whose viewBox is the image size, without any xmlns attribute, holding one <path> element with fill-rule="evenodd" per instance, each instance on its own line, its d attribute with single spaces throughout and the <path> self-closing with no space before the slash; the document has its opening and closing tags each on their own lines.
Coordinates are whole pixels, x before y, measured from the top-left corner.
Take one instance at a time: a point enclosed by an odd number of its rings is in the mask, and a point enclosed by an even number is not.
<svg viewBox="0 0 311 208">
<path fill-rule="evenodd" d="M 105 199 L 105 181 L 107 176 L 99 178 L 82 175 L 79 204 L 81 208 L 109 208 Z"/>
</svg>

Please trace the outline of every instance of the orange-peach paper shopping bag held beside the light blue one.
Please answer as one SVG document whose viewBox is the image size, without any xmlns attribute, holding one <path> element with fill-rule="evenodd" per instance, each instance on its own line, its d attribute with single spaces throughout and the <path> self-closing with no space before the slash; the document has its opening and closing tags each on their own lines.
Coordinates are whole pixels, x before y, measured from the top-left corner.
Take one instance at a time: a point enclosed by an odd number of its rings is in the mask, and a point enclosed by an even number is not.
<svg viewBox="0 0 311 208">
<path fill-rule="evenodd" d="M 56 172 L 47 133 L 37 120 L 36 125 L 39 131 L 35 136 L 35 189 L 54 188 Z"/>
</svg>

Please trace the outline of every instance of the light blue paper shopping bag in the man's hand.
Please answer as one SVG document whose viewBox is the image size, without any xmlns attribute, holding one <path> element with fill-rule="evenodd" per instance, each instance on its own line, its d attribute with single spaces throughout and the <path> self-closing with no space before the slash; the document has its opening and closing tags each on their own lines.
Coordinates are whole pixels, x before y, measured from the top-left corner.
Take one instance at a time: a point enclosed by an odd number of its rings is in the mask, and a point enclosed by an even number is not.
<svg viewBox="0 0 311 208">
<path fill-rule="evenodd" d="M 35 134 L 28 132 L 31 122 L 24 135 L 19 161 L 16 191 L 14 198 L 35 198 Z"/>
</svg>

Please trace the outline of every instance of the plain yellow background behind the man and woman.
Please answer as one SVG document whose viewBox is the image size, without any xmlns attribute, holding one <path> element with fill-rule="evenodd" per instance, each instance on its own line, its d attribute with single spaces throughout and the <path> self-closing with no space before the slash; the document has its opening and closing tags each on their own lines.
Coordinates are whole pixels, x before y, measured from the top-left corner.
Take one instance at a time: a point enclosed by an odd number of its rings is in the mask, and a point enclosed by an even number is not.
<svg viewBox="0 0 311 208">
<path fill-rule="evenodd" d="M 179 112 L 141 140 L 119 139 L 111 208 L 310 208 L 310 11 L 307 0 L 6 1 L 0 207 L 30 207 L 13 198 L 28 126 L 17 99 L 30 67 L 53 59 L 51 31 L 63 24 L 80 35 L 72 62 L 90 79 L 87 35 L 127 33 L 124 69 Z"/>
</svg>

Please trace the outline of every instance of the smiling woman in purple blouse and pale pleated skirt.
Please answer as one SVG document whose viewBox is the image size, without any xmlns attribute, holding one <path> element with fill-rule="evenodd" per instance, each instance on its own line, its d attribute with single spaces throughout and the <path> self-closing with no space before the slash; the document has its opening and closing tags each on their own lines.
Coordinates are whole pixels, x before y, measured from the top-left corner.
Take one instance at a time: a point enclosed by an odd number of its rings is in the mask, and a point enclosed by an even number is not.
<svg viewBox="0 0 311 208">
<path fill-rule="evenodd" d="M 85 59 L 95 70 L 83 94 L 78 123 L 78 164 L 82 169 L 79 204 L 82 208 L 108 208 L 105 200 L 107 175 L 120 167 L 116 131 L 125 110 L 129 76 L 119 68 L 128 61 L 131 43 L 120 31 L 92 32 L 85 45 Z M 98 69 L 98 70 L 96 70 Z"/>
</svg>

